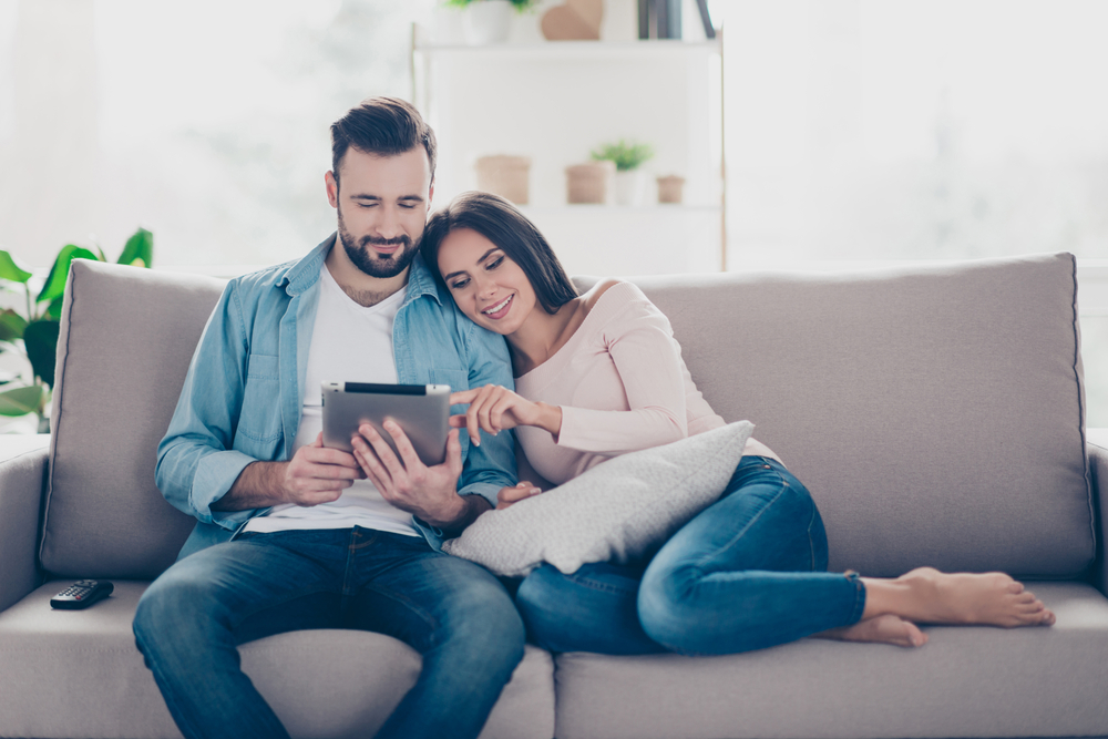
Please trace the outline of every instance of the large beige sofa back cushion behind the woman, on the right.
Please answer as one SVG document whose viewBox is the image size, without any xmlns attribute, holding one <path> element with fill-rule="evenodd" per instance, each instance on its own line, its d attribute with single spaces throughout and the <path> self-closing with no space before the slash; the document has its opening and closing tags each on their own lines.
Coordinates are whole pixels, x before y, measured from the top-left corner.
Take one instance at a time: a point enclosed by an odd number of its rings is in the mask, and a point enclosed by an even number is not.
<svg viewBox="0 0 1108 739">
<path fill-rule="evenodd" d="M 633 281 L 712 408 L 810 489 L 832 569 L 1091 563 L 1071 255 Z"/>
</svg>

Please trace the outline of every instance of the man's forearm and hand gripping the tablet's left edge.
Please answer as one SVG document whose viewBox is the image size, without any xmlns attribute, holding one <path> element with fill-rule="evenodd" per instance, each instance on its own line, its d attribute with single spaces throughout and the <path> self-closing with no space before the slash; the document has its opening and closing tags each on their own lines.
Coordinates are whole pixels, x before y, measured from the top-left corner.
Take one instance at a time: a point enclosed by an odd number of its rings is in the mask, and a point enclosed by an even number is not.
<svg viewBox="0 0 1108 739">
<path fill-rule="evenodd" d="M 320 433 L 314 442 L 296 450 L 288 462 L 248 464 L 227 494 L 212 504 L 212 510 L 245 511 L 283 503 L 308 507 L 330 503 L 355 480 L 365 478 L 353 454 L 327 449 Z"/>
</svg>

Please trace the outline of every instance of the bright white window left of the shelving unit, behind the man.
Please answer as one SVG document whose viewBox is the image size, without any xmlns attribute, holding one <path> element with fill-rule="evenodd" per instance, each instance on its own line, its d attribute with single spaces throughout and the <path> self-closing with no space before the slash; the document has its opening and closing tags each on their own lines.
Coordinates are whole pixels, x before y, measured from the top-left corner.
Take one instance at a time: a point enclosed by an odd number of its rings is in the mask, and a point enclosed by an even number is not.
<svg viewBox="0 0 1108 739">
<path fill-rule="evenodd" d="M 140 224 L 156 263 L 261 265 L 335 227 L 328 126 L 410 94 L 434 0 L 0 0 L 0 248 Z"/>
</svg>

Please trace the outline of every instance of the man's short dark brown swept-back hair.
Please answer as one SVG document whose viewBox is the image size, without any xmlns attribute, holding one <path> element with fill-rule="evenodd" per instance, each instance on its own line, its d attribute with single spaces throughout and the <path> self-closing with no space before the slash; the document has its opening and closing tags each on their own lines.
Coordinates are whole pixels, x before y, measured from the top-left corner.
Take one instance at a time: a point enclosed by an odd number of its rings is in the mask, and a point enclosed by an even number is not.
<svg viewBox="0 0 1108 739">
<path fill-rule="evenodd" d="M 434 132 L 411 103 L 399 97 L 363 100 L 331 124 L 331 173 L 336 182 L 342 157 L 351 146 L 377 156 L 396 156 L 422 146 L 434 182 Z"/>
</svg>

